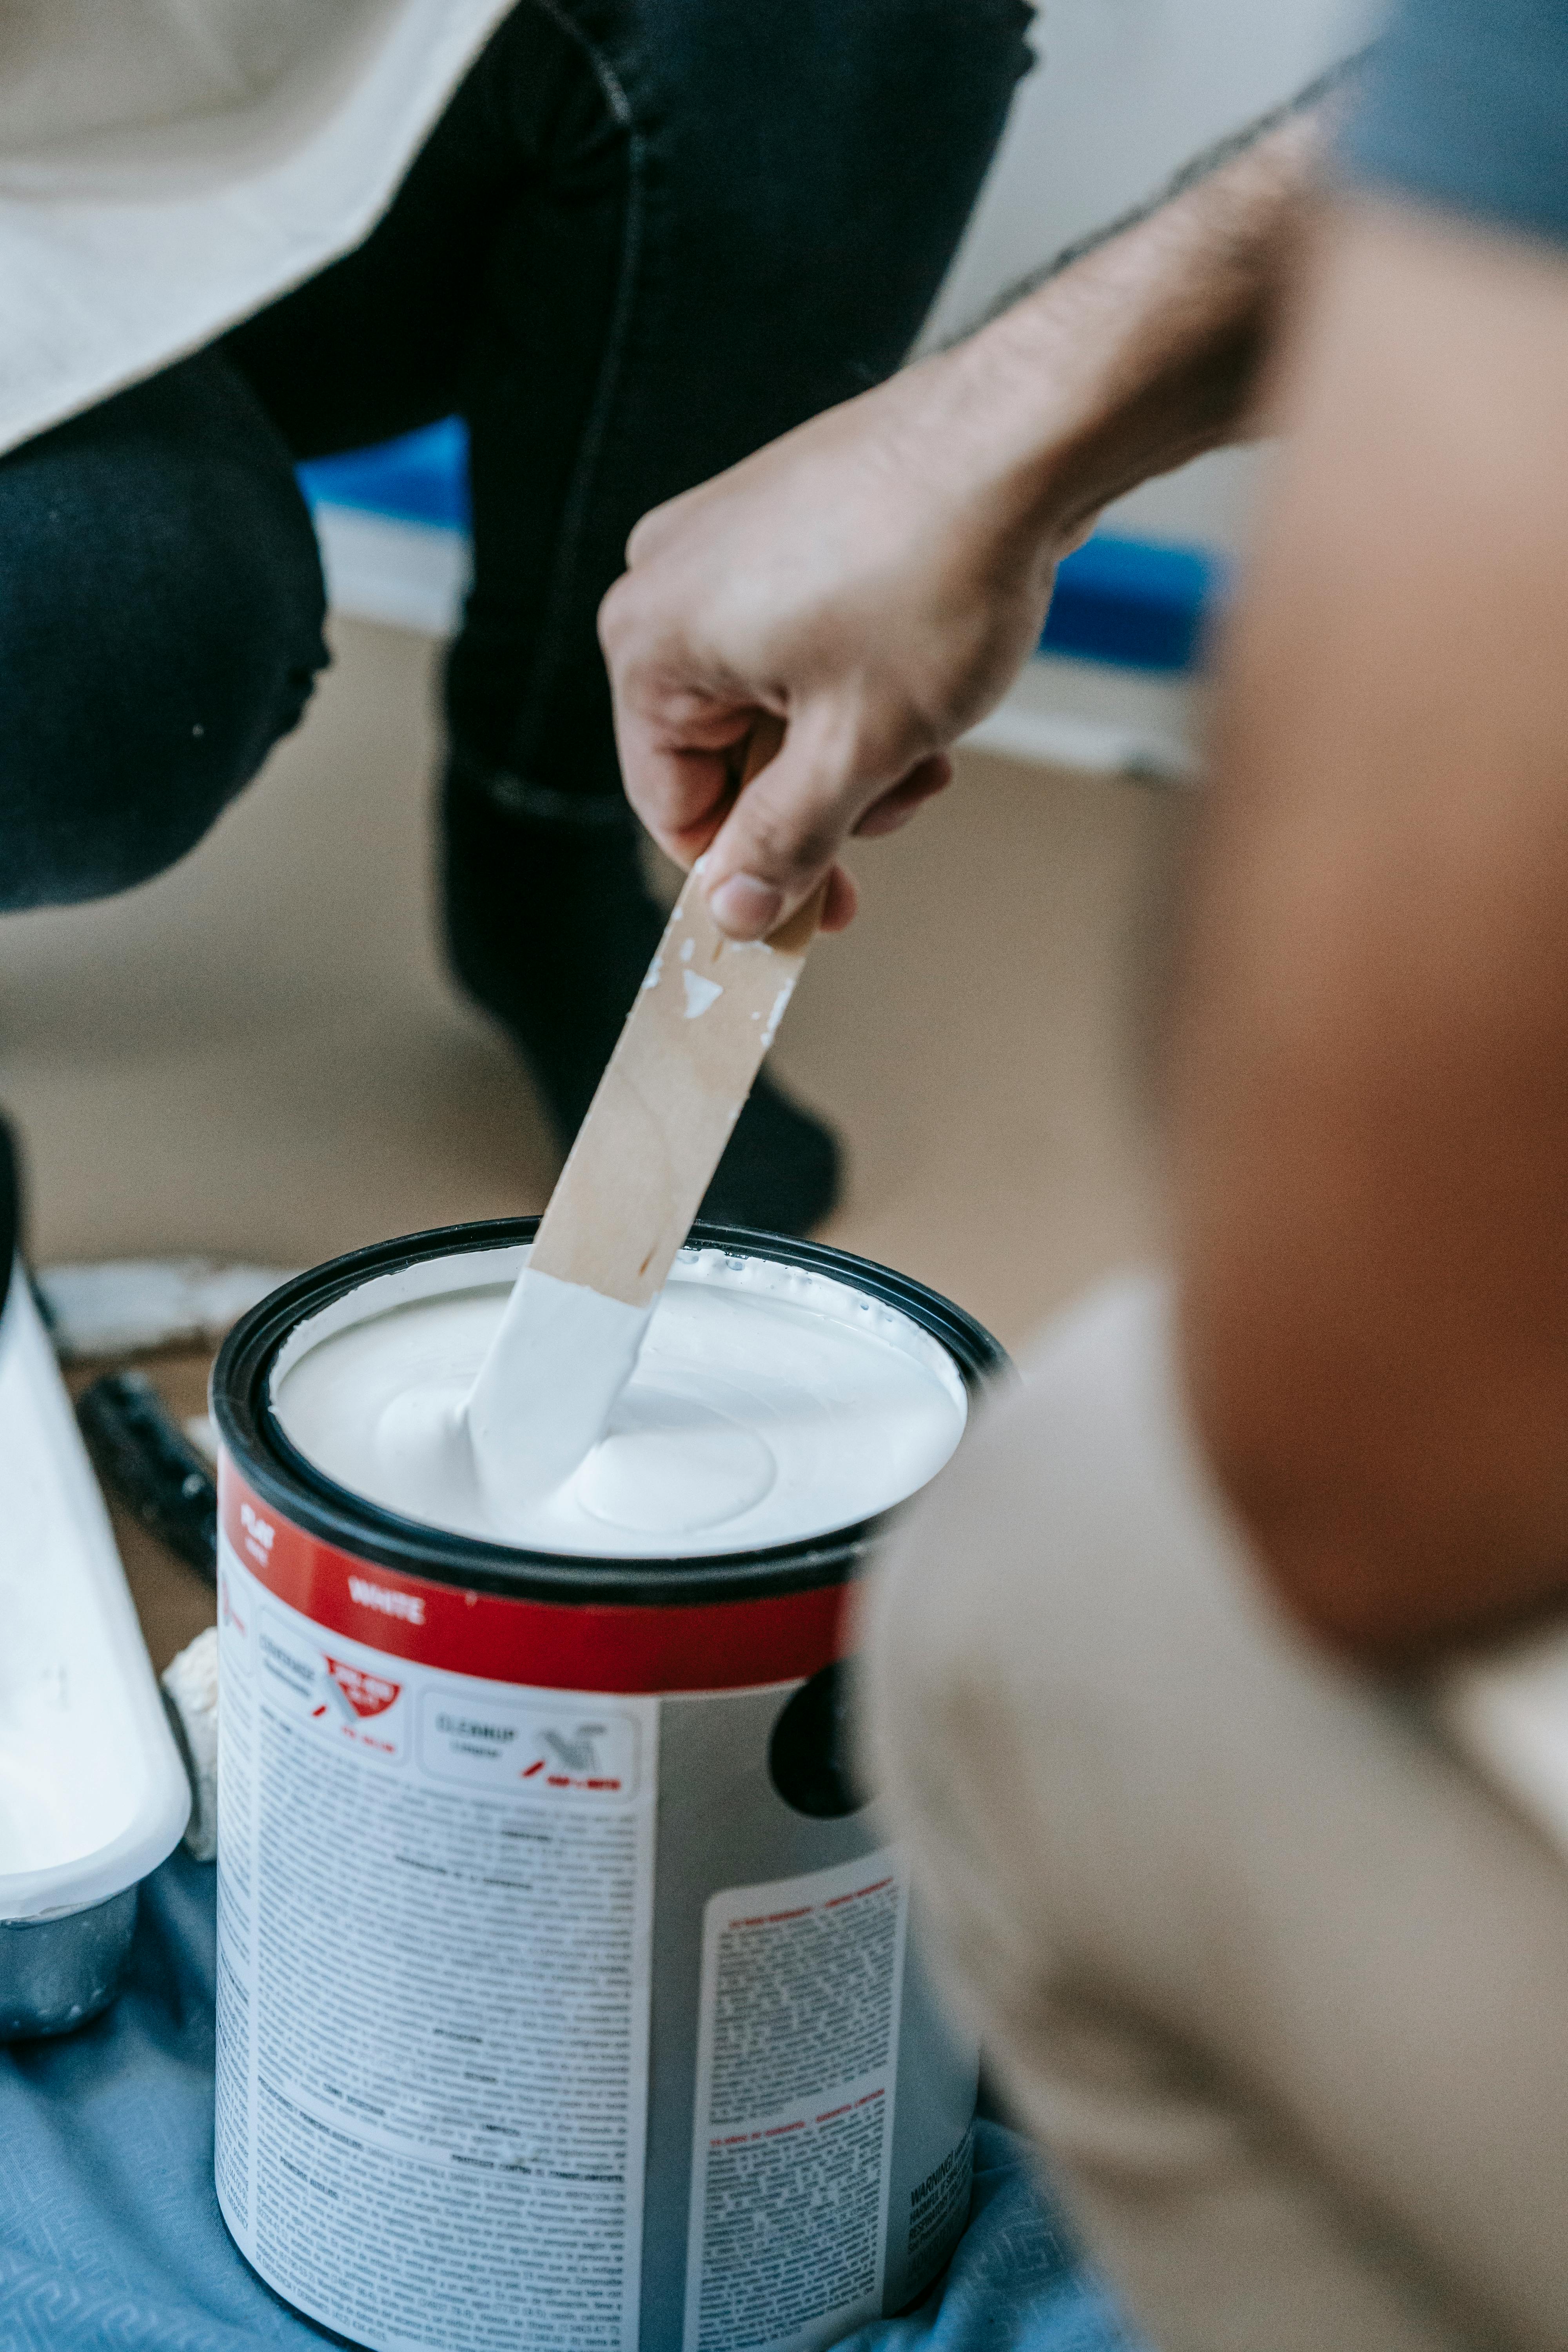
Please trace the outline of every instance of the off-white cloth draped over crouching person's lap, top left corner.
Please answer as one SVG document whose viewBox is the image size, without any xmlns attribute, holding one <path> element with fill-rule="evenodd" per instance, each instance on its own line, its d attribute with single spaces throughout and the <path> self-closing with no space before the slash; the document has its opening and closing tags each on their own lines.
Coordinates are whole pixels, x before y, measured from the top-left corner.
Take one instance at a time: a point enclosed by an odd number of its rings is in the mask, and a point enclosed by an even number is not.
<svg viewBox="0 0 1568 2352">
<path fill-rule="evenodd" d="M 5 0 L 0 449 L 357 245 L 510 0 Z"/>
</svg>

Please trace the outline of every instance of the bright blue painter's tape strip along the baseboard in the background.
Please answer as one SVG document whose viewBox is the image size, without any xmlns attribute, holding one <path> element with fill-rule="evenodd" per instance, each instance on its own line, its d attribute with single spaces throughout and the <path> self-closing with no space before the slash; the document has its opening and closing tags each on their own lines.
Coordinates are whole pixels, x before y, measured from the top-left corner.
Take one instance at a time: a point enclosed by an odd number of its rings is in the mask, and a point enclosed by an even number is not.
<svg viewBox="0 0 1568 2352">
<path fill-rule="evenodd" d="M 449 532 L 470 524 L 468 430 L 461 416 L 374 449 L 310 459 L 299 477 L 313 506 L 353 506 Z M 1204 548 L 1100 532 L 1056 576 L 1041 652 L 1131 670 L 1190 670 L 1225 586 L 1222 560 Z"/>
</svg>

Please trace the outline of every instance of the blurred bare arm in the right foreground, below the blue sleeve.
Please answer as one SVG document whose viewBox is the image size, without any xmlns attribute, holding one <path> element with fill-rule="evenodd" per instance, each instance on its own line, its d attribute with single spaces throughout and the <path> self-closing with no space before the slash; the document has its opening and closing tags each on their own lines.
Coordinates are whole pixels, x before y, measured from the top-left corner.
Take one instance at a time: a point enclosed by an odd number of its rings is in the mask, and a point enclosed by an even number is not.
<svg viewBox="0 0 1568 2352">
<path fill-rule="evenodd" d="M 1199 1423 L 1368 1656 L 1568 1597 L 1568 254 L 1326 226 L 1173 1061 Z"/>
</svg>

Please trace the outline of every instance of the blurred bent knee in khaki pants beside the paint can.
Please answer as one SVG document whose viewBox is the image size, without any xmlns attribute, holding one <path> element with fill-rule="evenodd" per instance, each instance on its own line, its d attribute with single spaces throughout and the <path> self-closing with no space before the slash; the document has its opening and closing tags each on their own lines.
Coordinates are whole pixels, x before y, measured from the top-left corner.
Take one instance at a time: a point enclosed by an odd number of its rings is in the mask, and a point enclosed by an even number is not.
<svg viewBox="0 0 1568 2352">
<path fill-rule="evenodd" d="M 1164 1284 L 1048 1334 L 870 1656 L 954 1997 L 1164 2352 L 1568 2345 L 1568 1865 L 1274 1613 Z"/>
</svg>

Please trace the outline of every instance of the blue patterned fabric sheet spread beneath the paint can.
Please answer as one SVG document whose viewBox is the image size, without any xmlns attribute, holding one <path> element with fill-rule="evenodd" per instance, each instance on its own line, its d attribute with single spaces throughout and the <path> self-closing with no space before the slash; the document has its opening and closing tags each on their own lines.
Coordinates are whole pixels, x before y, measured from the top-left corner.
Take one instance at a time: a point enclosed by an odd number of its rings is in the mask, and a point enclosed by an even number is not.
<svg viewBox="0 0 1568 2352">
<path fill-rule="evenodd" d="M 120 2002 L 0 2051 L 0 2352 L 322 2345 L 235 2253 L 212 2190 L 214 1870 L 141 1891 Z M 844 2352 L 1135 2352 L 1034 2185 L 978 2126 L 969 2232 L 926 2307 Z"/>
</svg>

